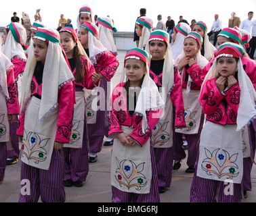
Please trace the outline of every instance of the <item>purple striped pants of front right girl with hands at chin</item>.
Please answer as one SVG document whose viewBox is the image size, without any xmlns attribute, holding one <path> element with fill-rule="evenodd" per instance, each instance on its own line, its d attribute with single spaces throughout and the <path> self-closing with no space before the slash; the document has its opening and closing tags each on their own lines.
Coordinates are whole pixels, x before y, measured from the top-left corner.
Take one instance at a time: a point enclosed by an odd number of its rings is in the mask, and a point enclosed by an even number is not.
<svg viewBox="0 0 256 216">
<path fill-rule="evenodd" d="M 233 195 L 225 194 L 225 188 L 229 186 L 224 182 L 208 180 L 196 176 L 198 159 L 194 167 L 194 178 L 190 190 L 190 202 L 217 202 L 216 195 L 219 187 L 218 202 L 241 202 L 241 184 L 233 184 Z"/>
</svg>

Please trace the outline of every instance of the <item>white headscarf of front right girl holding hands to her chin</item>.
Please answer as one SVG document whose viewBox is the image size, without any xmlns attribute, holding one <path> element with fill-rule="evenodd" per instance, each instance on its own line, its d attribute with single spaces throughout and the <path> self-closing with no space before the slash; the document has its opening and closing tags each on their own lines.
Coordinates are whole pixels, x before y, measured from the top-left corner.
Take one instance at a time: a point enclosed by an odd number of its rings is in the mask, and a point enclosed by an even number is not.
<svg viewBox="0 0 256 216">
<path fill-rule="evenodd" d="M 219 47 L 219 51 L 221 51 L 222 49 L 225 49 L 227 45 L 230 45 L 230 47 L 232 48 L 236 47 L 236 49 L 240 49 L 240 52 L 239 51 L 236 51 L 236 52 L 242 53 L 242 46 L 237 45 L 236 43 L 223 43 Z M 205 84 L 206 80 L 213 79 L 217 76 L 217 58 L 218 56 L 213 61 L 213 65 L 211 66 L 209 72 L 205 76 L 205 80 L 202 82 L 202 86 Z M 239 103 L 238 115 L 236 119 L 236 124 L 237 124 L 236 130 L 241 130 L 256 115 L 256 110 L 255 110 L 256 92 L 250 78 L 247 76 L 246 72 L 244 72 L 244 68 L 242 68 L 241 57 L 238 60 L 237 68 L 238 68 L 238 84 L 240 86 L 240 103 Z M 200 92 L 200 94 L 201 93 L 202 92 Z"/>
</svg>

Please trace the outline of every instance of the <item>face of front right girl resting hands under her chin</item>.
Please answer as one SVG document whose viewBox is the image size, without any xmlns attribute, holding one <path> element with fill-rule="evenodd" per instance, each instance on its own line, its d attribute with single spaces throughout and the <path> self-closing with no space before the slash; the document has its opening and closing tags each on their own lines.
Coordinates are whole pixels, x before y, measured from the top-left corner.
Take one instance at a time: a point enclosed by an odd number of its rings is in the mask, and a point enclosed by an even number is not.
<svg viewBox="0 0 256 216">
<path fill-rule="evenodd" d="M 237 72 L 237 62 L 234 57 L 219 57 L 217 60 L 217 71 L 221 76 L 235 76 Z"/>
</svg>

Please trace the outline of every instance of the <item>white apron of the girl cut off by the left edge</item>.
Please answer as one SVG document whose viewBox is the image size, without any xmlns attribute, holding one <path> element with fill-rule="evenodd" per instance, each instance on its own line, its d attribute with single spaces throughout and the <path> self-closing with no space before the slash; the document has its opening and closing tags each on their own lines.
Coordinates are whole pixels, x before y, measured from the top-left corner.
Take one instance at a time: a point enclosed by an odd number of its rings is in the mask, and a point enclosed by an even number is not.
<svg viewBox="0 0 256 216">
<path fill-rule="evenodd" d="M 8 121 L 8 110 L 7 101 L 3 94 L 0 92 L 0 142 L 9 141 L 9 121 Z"/>
</svg>

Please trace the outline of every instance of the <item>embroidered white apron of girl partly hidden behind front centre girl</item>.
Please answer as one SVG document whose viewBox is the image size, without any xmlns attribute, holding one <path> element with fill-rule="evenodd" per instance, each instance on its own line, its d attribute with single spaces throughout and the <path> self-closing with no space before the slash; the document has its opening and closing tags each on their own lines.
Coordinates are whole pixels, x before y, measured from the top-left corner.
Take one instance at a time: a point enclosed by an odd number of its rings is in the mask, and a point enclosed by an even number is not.
<svg viewBox="0 0 256 216">
<path fill-rule="evenodd" d="M 152 130 L 154 148 L 170 148 L 173 146 L 173 103 L 168 97 L 165 113 Z"/>
</svg>

